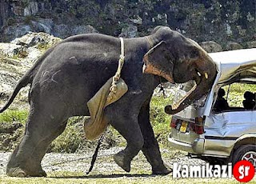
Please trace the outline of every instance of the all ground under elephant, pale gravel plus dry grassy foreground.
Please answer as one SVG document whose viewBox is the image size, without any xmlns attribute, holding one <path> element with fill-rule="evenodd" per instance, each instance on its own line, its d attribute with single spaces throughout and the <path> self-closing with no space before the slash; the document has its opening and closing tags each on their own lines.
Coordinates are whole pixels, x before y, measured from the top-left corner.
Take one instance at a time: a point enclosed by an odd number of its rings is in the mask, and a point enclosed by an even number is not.
<svg viewBox="0 0 256 184">
<path fill-rule="evenodd" d="M 100 150 L 94 169 L 89 175 L 86 171 L 90 167 L 91 156 L 94 151 L 76 154 L 46 154 L 42 160 L 42 167 L 46 170 L 47 178 L 10 178 L 6 177 L 5 170 L 10 152 L 0 153 L 0 183 L 238 183 L 234 178 L 172 178 L 151 175 L 150 164 L 140 152 L 131 164 L 131 171 L 127 174 L 113 160 L 121 147 Z M 174 162 L 187 165 L 201 165 L 205 162 L 199 159 L 190 159 L 184 152 L 162 149 L 162 158 L 168 166 Z M 256 178 L 250 183 L 255 183 Z"/>
</svg>

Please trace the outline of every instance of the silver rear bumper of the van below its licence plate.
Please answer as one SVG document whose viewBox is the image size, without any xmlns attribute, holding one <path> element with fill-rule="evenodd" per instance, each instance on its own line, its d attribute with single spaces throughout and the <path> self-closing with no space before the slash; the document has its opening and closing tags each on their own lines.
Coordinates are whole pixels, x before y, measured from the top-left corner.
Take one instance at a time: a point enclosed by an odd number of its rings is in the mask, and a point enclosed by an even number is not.
<svg viewBox="0 0 256 184">
<path fill-rule="evenodd" d="M 180 142 L 175 138 L 172 138 L 171 134 L 169 134 L 168 141 L 170 142 L 170 146 L 178 149 L 189 152 L 190 154 L 203 154 L 203 147 L 205 143 L 205 139 L 196 138 L 192 144 L 186 142 Z"/>
</svg>

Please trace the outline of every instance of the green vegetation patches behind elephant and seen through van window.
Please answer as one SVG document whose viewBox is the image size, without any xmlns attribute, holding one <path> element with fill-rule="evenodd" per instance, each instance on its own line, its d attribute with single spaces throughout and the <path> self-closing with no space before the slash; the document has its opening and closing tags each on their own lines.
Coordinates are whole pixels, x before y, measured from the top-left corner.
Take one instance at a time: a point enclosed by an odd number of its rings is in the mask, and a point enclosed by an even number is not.
<svg viewBox="0 0 256 184">
<path fill-rule="evenodd" d="M 226 91 L 228 90 L 228 86 L 223 88 Z M 230 106 L 242 106 L 243 94 L 246 90 L 254 92 L 256 86 L 241 83 L 233 84 L 230 87 L 228 97 Z M 162 96 L 154 96 L 150 102 L 150 122 L 161 147 L 168 147 L 167 136 L 170 132 L 171 116 L 164 112 L 164 107 L 170 103 L 170 98 L 163 98 Z M 0 114 L 0 122 L 21 122 L 22 125 L 25 125 L 27 116 L 27 110 L 6 110 L 6 112 Z M 126 146 L 125 139 L 111 126 L 106 134 L 106 142 L 108 147 Z M 82 148 L 92 148 L 96 143 L 97 140 L 89 142 L 84 137 L 82 117 L 74 117 L 69 119 L 66 130 L 52 142 L 48 152 L 74 153 Z"/>
</svg>

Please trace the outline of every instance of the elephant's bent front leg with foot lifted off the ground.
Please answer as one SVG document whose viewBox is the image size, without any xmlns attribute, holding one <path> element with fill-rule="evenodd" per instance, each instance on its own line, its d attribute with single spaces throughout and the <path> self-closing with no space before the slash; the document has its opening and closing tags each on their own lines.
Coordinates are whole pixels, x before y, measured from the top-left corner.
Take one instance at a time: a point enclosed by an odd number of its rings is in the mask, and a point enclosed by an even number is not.
<svg viewBox="0 0 256 184">
<path fill-rule="evenodd" d="M 106 117 L 111 126 L 126 139 L 126 149 L 114 155 L 114 161 L 126 172 L 130 172 L 130 162 L 142 149 L 144 140 L 138 125 L 138 113 L 123 108 L 106 108 Z"/>
</svg>

